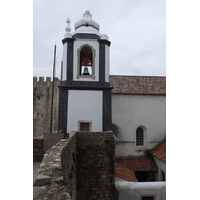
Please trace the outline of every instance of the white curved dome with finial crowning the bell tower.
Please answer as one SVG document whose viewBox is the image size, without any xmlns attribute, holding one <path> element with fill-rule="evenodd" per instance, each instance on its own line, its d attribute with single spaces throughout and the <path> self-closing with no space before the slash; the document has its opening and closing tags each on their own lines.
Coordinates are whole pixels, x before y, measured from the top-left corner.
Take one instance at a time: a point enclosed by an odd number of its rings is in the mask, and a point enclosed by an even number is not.
<svg viewBox="0 0 200 200">
<path fill-rule="evenodd" d="M 92 27 L 99 31 L 100 25 L 92 19 L 92 15 L 89 10 L 86 10 L 83 14 L 83 19 L 77 21 L 74 25 L 75 30 L 80 27 Z"/>
</svg>

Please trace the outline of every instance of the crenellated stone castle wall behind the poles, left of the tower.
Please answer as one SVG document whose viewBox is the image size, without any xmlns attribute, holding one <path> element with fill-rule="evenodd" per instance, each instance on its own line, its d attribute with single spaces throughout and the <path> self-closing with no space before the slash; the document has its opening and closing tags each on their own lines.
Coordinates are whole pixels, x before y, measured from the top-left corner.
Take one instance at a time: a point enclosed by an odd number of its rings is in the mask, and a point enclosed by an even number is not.
<svg viewBox="0 0 200 200">
<path fill-rule="evenodd" d="M 33 77 L 33 137 L 41 137 L 50 132 L 52 80 L 47 77 Z M 60 80 L 54 78 L 52 132 L 58 129 L 58 106 Z"/>
</svg>

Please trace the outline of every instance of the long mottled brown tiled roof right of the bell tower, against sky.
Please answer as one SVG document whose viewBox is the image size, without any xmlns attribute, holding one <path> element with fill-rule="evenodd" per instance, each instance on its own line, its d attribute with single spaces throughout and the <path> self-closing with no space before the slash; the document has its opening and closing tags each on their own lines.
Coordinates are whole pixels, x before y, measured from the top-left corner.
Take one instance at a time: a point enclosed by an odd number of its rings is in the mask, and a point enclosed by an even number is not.
<svg viewBox="0 0 200 200">
<path fill-rule="evenodd" d="M 166 94 L 166 77 L 110 75 L 112 93 Z"/>
</svg>

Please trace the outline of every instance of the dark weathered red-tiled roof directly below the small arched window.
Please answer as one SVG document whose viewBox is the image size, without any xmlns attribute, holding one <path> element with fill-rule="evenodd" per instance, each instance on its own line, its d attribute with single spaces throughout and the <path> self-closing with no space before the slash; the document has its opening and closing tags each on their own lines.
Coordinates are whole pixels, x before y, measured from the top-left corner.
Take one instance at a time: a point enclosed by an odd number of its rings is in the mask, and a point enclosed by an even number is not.
<svg viewBox="0 0 200 200">
<path fill-rule="evenodd" d="M 151 157 L 116 158 L 116 162 L 132 171 L 157 171 L 158 167 Z"/>
</svg>

